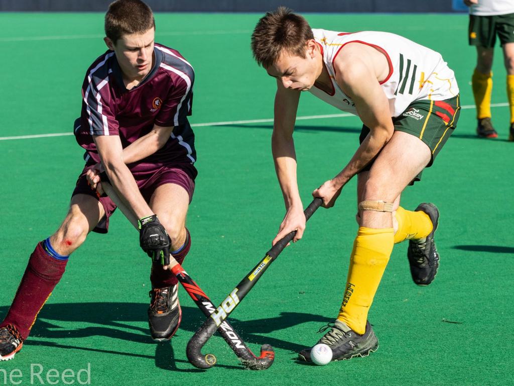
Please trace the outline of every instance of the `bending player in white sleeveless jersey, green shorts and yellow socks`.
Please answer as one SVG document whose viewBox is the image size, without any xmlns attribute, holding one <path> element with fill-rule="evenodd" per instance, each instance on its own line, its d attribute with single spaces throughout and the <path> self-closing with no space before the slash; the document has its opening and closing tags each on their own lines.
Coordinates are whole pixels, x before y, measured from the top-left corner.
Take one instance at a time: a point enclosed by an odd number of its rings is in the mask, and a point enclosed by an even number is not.
<svg viewBox="0 0 514 386">
<path fill-rule="evenodd" d="M 409 240 L 416 284 L 432 283 L 438 269 L 437 208 L 423 203 L 409 211 L 399 201 L 403 189 L 419 180 L 456 127 L 460 103 L 453 71 L 437 52 L 395 34 L 313 30 L 302 16 L 283 7 L 259 20 L 252 51 L 277 80 L 271 149 L 286 214 L 273 243 L 292 231 L 297 241 L 305 230 L 292 139 L 301 92 L 309 91 L 362 120 L 355 154 L 313 196 L 329 208 L 358 174 L 359 230 L 342 305 L 318 343 L 331 347 L 332 360 L 367 356 L 378 347 L 368 311 L 393 244 Z M 339 260 L 340 253 L 335 255 Z M 310 361 L 310 348 L 302 350 L 299 359 Z"/>
</svg>

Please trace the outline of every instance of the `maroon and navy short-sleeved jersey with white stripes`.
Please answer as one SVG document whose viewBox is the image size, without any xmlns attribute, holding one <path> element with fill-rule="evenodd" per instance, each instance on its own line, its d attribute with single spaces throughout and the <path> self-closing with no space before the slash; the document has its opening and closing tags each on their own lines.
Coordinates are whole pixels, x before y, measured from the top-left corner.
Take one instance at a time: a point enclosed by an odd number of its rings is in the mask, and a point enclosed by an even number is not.
<svg viewBox="0 0 514 386">
<path fill-rule="evenodd" d="M 123 147 L 148 134 L 154 124 L 174 126 L 168 142 L 138 164 L 196 161 L 189 125 L 194 71 L 178 51 L 154 46 L 155 63 L 146 78 L 127 90 L 114 51 L 108 50 L 87 69 L 82 86 L 82 112 L 75 136 L 86 149 L 86 162 L 100 162 L 94 135 L 118 135 Z"/>
</svg>

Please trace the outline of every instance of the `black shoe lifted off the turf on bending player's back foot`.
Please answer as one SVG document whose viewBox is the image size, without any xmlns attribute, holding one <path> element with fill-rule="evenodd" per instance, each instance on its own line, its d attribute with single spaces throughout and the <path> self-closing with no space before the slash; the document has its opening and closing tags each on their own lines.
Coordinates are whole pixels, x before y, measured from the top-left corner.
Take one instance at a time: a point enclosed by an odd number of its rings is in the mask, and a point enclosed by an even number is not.
<svg viewBox="0 0 514 386">
<path fill-rule="evenodd" d="M 434 233 L 439 222 L 439 210 L 434 204 L 419 204 L 415 211 L 425 212 L 432 221 L 433 229 L 427 237 L 409 240 L 407 257 L 411 266 L 412 280 L 418 286 L 428 286 L 439 269 L 439 254 L 435 248 Z"/>
</svg>

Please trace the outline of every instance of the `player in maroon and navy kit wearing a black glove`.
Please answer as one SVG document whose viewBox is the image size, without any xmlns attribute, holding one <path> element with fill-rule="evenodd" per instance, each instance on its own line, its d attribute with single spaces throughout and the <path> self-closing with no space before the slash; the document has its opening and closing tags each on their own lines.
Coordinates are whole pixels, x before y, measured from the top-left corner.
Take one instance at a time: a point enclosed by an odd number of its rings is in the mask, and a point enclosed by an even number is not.
<svg viewBox="0 0 514 386">
<path fill-rule="evenodd" d="M 66 218 L 36 245 L 0 324 L 0 360 L 12 359 L 21 349 L 69 255 L 90 231 L 107 232 L 116 206 L 102 195 L 104 179 L 140 219 L 140 245 L 152 257 L 152 338 L 171 339 L 180 324 L 177 279 L 167 263 L 170 254 L 182 262 L 191 245 L 185 223 L 196 177 L 187 118 L 193 68 L 176 50 L 154 44 L 154 17 L 140 0 L 112 3 L 105 34 L 109 49 L 87 69 L 74 127 L 86 164 Z"/>
</svg>

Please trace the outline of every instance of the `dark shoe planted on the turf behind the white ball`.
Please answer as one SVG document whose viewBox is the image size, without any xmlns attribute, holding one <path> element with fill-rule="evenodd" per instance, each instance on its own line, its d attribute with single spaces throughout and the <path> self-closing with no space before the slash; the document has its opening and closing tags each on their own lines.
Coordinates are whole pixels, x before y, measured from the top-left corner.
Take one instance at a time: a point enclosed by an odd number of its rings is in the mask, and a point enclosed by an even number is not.
<svg viewBox="0 0 514 386">
<path fill-rule="evenodd" d="M 354 357 L 367 357 L 378 348 L 378 339 L 371 328 L 370 322 L 366 322 L 366 331 L 363 335 L 357 334 L 357 332 L 337 319 L 335 322 L 328 323 L 325 327 L 320 328 L 318 332 L 323 332 L 328 328 L 330 328 L 330 331 L 318 343 L 325 343 L 332 348 L 333 361 L 352 359 Z M 298 354 L 298 360 L 310 362 L 310 350 L 311 348 L 302 350 Z"/>
</svg>

